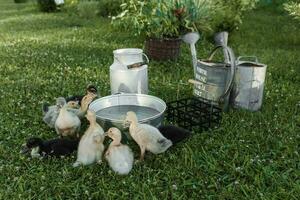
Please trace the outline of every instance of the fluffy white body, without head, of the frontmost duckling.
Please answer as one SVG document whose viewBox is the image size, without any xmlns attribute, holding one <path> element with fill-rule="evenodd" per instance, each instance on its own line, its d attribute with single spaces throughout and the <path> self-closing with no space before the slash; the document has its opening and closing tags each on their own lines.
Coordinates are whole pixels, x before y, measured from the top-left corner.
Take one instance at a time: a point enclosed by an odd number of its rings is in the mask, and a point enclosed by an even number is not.
<svg viewBox="0 0 300 200">
<path fill-rule="evenodd" d="M 106 155 L 109 166 L 118 174 L 128 174 L 133 165 L 133 153 L 127 145 L 109 147 Z"/>
</svg>

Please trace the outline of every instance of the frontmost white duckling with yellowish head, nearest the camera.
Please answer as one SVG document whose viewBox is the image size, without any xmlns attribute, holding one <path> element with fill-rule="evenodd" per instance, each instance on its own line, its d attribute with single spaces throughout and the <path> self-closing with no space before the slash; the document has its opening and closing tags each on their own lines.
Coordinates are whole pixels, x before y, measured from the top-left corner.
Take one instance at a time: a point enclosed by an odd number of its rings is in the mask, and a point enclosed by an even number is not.
<svg viewBox="0 0 300 200">
<path fill-rule="evenodd" d="M 117 128 L 110 128 L 107 136 L 113 141 L 110 143 L 105 158 L 113 171 L 120 175 L 128 174 L 133 165 L 133 153 L 131 149 L 121 143 L 121 131 Z"/>
</svg>

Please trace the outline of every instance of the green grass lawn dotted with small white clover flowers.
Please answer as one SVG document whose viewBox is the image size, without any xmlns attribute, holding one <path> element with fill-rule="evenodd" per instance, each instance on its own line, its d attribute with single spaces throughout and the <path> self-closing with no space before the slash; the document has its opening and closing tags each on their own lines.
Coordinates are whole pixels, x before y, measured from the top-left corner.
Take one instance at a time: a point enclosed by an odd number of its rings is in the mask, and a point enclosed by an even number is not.
<svg viewBox="0 0 300 200">
<path fill-rule="evenodd" d="M 237 55 L 257 55 L 268 65 L 262 110 L 231 110 L 221 128 L 147 154 L 122 177 L 106 162 L 73 169 L 75 155 L 34 160 L 19 150 L 30 136 L 56 137 L 42 122 L 42 102 L 83 92 L 89 83 L 109 95 L 112 51 L 142 48 L 142 39 L 113 30 L 106 19 L 0 0 L 0 199 L 298 199 L 299 32 L 299 22 L 283 14 L 249 13 L 230 44 Z M 211 47 L 201 41 L 199 55 Z M 191 95 L 190 62 L 185 45 L 177 62 L 151 62 L 150 94 L 165 101 Z"/>
</svg>

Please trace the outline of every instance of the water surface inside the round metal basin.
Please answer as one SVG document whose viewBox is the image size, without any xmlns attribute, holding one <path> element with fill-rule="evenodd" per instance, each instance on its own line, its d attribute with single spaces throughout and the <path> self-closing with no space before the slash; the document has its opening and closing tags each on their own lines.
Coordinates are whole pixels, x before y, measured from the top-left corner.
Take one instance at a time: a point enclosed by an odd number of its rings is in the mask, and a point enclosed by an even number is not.
<svg viewBox="0 0 300 200">
<path fill-rule="evenodd" d="M 96 115 L 101 118 L 112 119 L 112 120 L 124 120 L 126 113 L 128 111 L 133 111 L 136 113 L 138 120 L 143 120 L 154 115 L 159 114 L 160 112 L 154 108 L 136 106 L 136 105 L 119 105 L 104 108 L 97 111 Z"/>
</svg>

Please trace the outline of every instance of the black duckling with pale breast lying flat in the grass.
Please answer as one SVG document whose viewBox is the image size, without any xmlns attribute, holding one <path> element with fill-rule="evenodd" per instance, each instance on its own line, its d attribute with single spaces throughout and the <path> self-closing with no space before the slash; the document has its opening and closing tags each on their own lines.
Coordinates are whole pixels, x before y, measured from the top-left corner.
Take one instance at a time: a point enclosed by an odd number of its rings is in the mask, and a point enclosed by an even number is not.
<svg viewBox="0 0 300 200">
<path fill-rule="evenodd" d="M 52 139 L 42 140 L 38 137 L 29 138 L 26 142 L 22 153 L 27 153 L 31 150 L 31 157 L 47 157 L 47 156 L 69 156 L 77 149 L 79 140 L 70 139 Z"/>
</svg>

